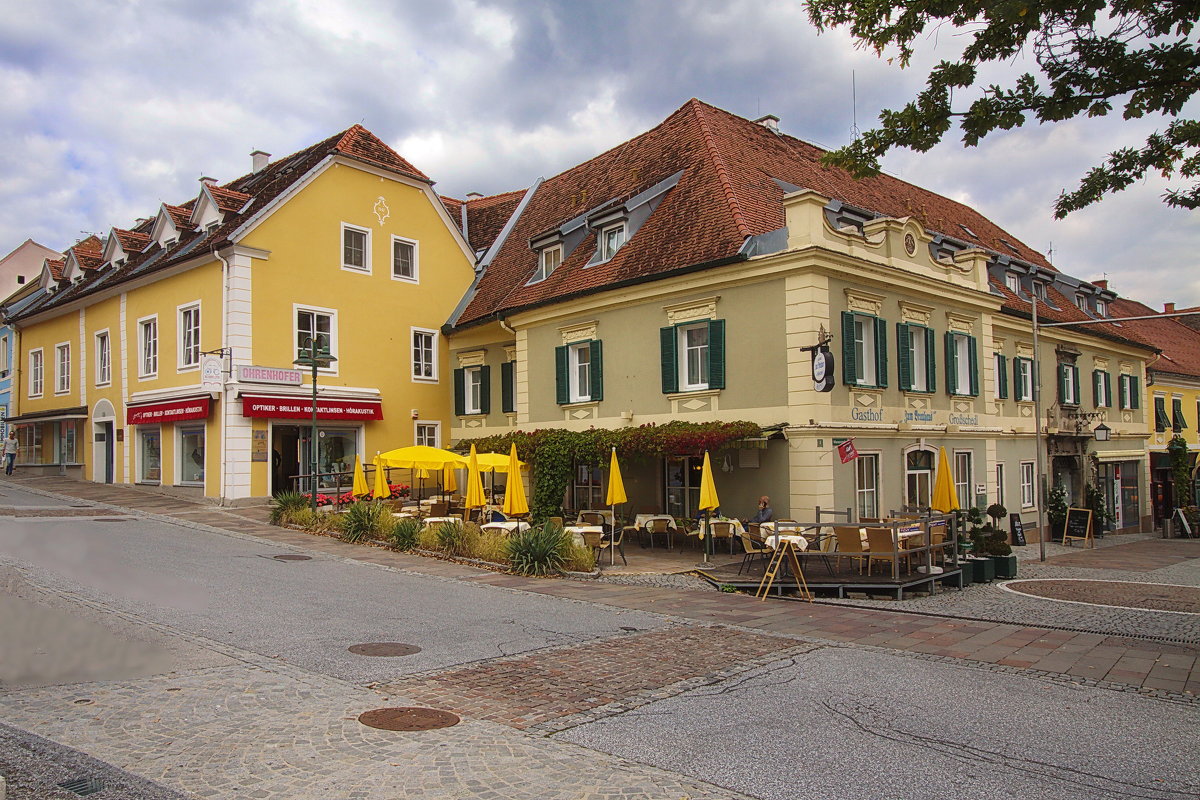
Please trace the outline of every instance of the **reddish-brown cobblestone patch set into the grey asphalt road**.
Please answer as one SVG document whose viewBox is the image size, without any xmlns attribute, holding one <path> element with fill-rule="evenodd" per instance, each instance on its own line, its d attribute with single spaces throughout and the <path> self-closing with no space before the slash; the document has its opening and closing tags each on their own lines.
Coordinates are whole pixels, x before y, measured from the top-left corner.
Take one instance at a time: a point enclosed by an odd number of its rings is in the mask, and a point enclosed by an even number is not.
<svg viewBox="0 0 1200 800">
<path fill-rule="evenodd" d="M 796 650 L 792 639 L 720 627 L 672 627 L 496 658 L 407 679 L 388 691 L 424 705 L 524 729 L 762 656 Z"/>
</svg>

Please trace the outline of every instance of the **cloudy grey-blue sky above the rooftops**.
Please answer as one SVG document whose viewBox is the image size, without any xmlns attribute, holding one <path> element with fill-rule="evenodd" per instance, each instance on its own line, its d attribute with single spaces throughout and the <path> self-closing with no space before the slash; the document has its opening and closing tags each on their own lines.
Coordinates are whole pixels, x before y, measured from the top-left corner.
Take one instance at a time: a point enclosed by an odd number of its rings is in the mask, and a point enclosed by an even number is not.
<svg viewBox="0 0 1200 800">
<path fill-rule="evenodd" d="M 818 36 L 790 0 L 0 0 L 0 253 L 128 225 L 194 196 L 200 175 L 244 174 L 251 150 L 282 156 L 355 122 L 457 197 L 528 186 L 690 97 L 838 146 L 852 74 L 865 130 L 961 46 L 940 31 L 901 71 L 840 31 Z M 1070 121 L 884 167 L 1052 247 L 1070 275 L 1200 305 L 1200 217 L 1160 203 L 1165 181 L 1052 217 L 1088 166 L 1162 126 Z"/>
</svg>

